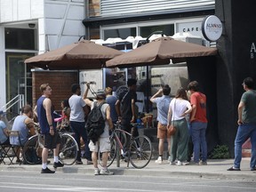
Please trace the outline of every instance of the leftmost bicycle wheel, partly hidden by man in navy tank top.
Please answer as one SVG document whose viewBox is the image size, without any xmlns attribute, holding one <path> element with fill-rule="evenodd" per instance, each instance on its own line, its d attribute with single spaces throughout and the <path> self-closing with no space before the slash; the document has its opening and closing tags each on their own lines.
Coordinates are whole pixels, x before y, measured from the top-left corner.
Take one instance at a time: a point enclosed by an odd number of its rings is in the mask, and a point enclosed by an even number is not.
<svg viewBox="0 0 256 192">
<path fill-rule="evenodd" d="M 30 137 L 23 147 L 23 163 L 42 164 L 42 149 L 38 143 L 38 135 Z"/>
</svg>

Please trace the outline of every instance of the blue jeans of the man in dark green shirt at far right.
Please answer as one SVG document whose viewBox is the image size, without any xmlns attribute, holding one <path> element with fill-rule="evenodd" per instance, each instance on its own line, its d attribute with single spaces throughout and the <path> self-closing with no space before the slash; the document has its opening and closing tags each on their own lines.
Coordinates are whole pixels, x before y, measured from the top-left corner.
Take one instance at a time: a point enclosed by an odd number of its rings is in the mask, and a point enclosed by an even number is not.
<svg viewBox="0 0 256 192">
<path fill-rule="evenodd" d="M 252 143 L 252 157 L 250 167 L 255 168 L 256 165 L 256 124 L 240 124 L 236 132 L 235 140 L 235 161 L 234 167 L 240 168 L 242 160 L 242 145 L 244 141 L 251 138 Z"/>
</svg>

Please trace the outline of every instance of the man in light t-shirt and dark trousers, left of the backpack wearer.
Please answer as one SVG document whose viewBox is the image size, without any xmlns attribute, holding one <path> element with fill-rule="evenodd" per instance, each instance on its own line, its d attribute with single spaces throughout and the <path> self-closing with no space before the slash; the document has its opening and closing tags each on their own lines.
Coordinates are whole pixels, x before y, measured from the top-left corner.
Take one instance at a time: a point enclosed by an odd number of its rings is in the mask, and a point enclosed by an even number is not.
<svg viewBox="0 0 256 192">
<path fill-rule="evenodd" d="M 87 164 L 92 164 L 92 154 L 88 147 L 87 132 L 85 129 L 85 115 L 88 114 L 85 102 L 81 97 L 81 87 L 79 84 L 72 84 L 71 91 L 73 95 L 69 98 L 68 103 L 71 109 L 69 123 L 71 130 L 75 132 L 75 140 L 77 142 L 79 151 L 76 156 L 76 164 L 83 164 L 81 159 L 81 142 L 80 138 L 84 140 L 85 153 Z"/>
</svg>

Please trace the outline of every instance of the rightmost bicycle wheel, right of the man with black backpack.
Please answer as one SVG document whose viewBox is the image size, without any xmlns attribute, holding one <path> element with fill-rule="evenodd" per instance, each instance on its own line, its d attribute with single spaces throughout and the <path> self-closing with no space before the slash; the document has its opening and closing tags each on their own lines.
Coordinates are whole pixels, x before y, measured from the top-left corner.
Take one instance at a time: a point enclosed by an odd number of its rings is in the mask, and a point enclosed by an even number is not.
<svg viewBox="0 0 256 192">
<path fill-rule="evenodd" d="M 133 167 L 142 169 L 148 165 L 152 156 L 151 141 L 146 136 L 139 136 L 132 140 L 130 162 Z"/>
</svg>

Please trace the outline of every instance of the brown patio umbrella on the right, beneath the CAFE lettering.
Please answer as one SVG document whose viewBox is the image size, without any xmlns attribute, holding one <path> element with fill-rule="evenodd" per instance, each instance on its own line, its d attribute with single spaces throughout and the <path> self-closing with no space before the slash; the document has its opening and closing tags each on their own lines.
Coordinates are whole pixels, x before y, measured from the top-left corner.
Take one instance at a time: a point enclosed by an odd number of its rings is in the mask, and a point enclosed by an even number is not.
<svg viewBox="0 0 256 192">
<path fill-rule="evenodd" d="M 216 55 L 216 48 L 209 48 L 198 44 L 190 44 L 174 40 L 172 37 L 160 37 L 126 52 L 106 62 L 108 68 L 131 68 L 153 66 L 185 61 L 186 58 Z"/>
</svg>

